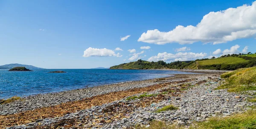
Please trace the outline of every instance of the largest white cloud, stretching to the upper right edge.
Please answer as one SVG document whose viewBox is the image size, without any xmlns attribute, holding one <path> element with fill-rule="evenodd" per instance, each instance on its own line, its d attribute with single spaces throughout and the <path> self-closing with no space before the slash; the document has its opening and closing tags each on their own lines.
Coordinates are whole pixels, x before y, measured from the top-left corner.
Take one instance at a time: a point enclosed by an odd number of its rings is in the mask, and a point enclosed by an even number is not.
<svg viewBox="0 0 256 129">
<path fill-rule="evenodd" d="M 209 12 L 196 26 L 178 25 L 172 31 L 161 32 L 157 29 L 144 32 L 139 42 L 163 45 L 178 42 L 192 44 L 204 42 L 225 43 L 256 35 L 256 1 L 252 5 L 228 8 L 224 11 Z"/>
</svg>

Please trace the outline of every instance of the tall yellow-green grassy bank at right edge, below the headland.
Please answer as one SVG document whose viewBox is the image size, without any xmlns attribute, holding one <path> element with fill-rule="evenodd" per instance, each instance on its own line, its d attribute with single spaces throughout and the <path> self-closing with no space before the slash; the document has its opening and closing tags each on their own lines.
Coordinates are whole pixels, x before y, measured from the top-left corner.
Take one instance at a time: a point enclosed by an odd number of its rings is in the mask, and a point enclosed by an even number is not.
<svg viewBox="0 0 256 129">
<path fill-rule="evenodd" d="M 229 92 L 256 90 L 256 67 L 241 68 L 221 75 L 226 80 L 217 89 L 228 88 Z"/>
</svg>

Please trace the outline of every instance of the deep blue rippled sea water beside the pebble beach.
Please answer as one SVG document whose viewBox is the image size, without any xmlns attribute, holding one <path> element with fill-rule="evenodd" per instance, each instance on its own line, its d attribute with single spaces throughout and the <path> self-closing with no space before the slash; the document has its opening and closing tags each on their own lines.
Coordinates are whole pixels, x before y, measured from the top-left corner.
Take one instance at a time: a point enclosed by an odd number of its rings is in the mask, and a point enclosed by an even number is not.
<svg viewBox="0 0 256 129">
<path fill-rule="evenodd" d="M 171 70 L 109 69 L 61 69 L 67 73 L 48 73 L 56 70 L 58 69 L 9 72 L 7 69 L 0 69 L 0 99 L 161 78 L 172 76 L 171 74 L 189 74 Z"/>
</svg>

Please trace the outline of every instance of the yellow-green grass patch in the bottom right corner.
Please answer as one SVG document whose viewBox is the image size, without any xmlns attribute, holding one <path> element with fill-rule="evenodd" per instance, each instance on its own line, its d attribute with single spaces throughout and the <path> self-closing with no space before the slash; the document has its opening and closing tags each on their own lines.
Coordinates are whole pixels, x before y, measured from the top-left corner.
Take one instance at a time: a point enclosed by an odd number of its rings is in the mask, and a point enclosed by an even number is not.
<svg viewBox="0 0 256 129">
<path fill-rule="evenodd" d="M 210 118 L 209 121 L 196 123 L 191 129 L 256 129 L 256 110 L 227 118 Z"/>
</svg>

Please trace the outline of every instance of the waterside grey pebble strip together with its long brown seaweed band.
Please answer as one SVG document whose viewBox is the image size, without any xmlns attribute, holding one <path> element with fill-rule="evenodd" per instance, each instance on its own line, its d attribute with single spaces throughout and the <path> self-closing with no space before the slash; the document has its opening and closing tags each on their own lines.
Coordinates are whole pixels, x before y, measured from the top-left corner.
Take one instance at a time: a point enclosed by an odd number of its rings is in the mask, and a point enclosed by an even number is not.
<svg viewBox="0 0 256 129">
<path fill-rule="evenodd" d="M 221 72 L 223 73 L 223 71 Z M 88 109 L 95 104 L 95 106 L 109 104 L 113 101 L 118 101 L 122 98 L 132 96 L 134 94 L 153 92 L 154 90 L 164 88 L 170 84 L 182 84 L 184 82 L 193 82 L 195 80 L 199 81 L 201 78 L 207 78 L 207 76 L 216 77 L 220 74 L 213 72 L 210 74 L 204 73 L 174 75 L 175 76 L 165 77 L 163 80 L 147 79 L 142 81 L 130 81 L 119 84 L 107 84 L 97 87 L 88 87 L 84 89 L 69 90 L 58 93 L 28 96 L 19 101 L 0 105 L 0 120 L 6 121 L 7 119 L 29 119 L 26 121 L 33 122 L 40 118 L 60 117 L 68 112 L 75 113 L 84 109 Z M 92 105 L 90 105 L 90 103 L 92 103 Z M 18 124 L 27 123 L 24 120 L 13 122 Z M 1 126 L 0 124 L 0 127 L 6 126 Z"/>
</svg>

